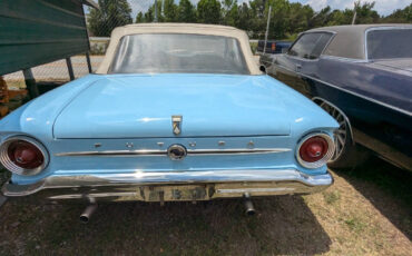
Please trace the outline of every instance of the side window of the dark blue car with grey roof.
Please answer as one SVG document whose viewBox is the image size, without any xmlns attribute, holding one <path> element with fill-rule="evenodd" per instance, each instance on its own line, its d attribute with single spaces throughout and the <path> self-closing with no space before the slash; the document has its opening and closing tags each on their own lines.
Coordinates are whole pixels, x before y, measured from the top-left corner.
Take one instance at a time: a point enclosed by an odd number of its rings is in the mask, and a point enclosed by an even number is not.
<svg viewBox="0 0 412 256">
<path fill-rule="evenodd" d="M 304 33 L 292 46 L 288 55 L 304 59 L 317 59 L 331 37 L 332 33 L 326 32 Z"/>
</svg>

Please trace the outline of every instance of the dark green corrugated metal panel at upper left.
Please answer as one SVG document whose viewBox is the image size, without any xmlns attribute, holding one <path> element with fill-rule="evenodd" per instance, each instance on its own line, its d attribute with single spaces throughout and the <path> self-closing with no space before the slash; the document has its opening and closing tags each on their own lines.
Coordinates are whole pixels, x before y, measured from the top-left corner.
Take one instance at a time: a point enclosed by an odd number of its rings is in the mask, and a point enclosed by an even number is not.
<svg viewBox="0 0 412 256">
<path fill-rule="evenodd" d="M 0 75 L 89 50 L 84 1 L 1 0 Z"/>
</svg>

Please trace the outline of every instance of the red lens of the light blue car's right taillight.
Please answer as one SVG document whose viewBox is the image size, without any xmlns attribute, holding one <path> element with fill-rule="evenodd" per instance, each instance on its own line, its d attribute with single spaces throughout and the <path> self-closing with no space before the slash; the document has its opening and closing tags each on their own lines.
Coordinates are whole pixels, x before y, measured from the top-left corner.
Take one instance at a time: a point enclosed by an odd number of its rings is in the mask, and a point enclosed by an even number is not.
<svg viewBox="0 0 412 256">
<path fill-rule="evenodd" d="M 304 141 L 300 148 L 302 160 L 314 163 L 321 160 L 327 152 L 328 144 L 326 139 L 315 136 Z"/>
</svg>

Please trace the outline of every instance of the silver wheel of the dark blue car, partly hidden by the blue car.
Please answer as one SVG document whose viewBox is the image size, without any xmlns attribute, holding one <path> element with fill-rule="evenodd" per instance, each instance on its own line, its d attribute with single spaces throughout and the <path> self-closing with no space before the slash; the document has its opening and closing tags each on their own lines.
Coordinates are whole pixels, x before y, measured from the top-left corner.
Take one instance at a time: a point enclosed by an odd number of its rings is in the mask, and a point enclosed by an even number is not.
<svg viewBox="0 0 412 256">
<path fill-rule="evenodd" d="M 346 142 L 346 129 L 347 124 L 345 121 L 344 116 L 337 111 L 335 108 L 328 106 L 325 102 L 321 104 L 321 108 L 323 108 L 328 115 L 331 115 L 339 124 L 339 128 L 335 131 L 335 152 L 333 154 L 333 157 L 331 158 L 331 161 L 336 160 L 343 152 L 343 149 L 345 147 Z"/>
</svg>

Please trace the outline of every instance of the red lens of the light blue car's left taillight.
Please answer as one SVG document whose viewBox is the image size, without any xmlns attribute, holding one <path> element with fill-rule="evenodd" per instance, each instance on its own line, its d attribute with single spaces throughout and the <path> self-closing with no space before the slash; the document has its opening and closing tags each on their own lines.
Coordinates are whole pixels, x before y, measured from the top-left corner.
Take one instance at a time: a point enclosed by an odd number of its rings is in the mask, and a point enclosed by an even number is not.
<svg viewBox="0 0 412 256">
<path fill-rule="evenodd" d="M 7 152 L 10 160 L 23 169 L 35 169 L 45 163 L 45 156 L 40 149 L 24 140 L 11 142 Z"/>
</svg>

